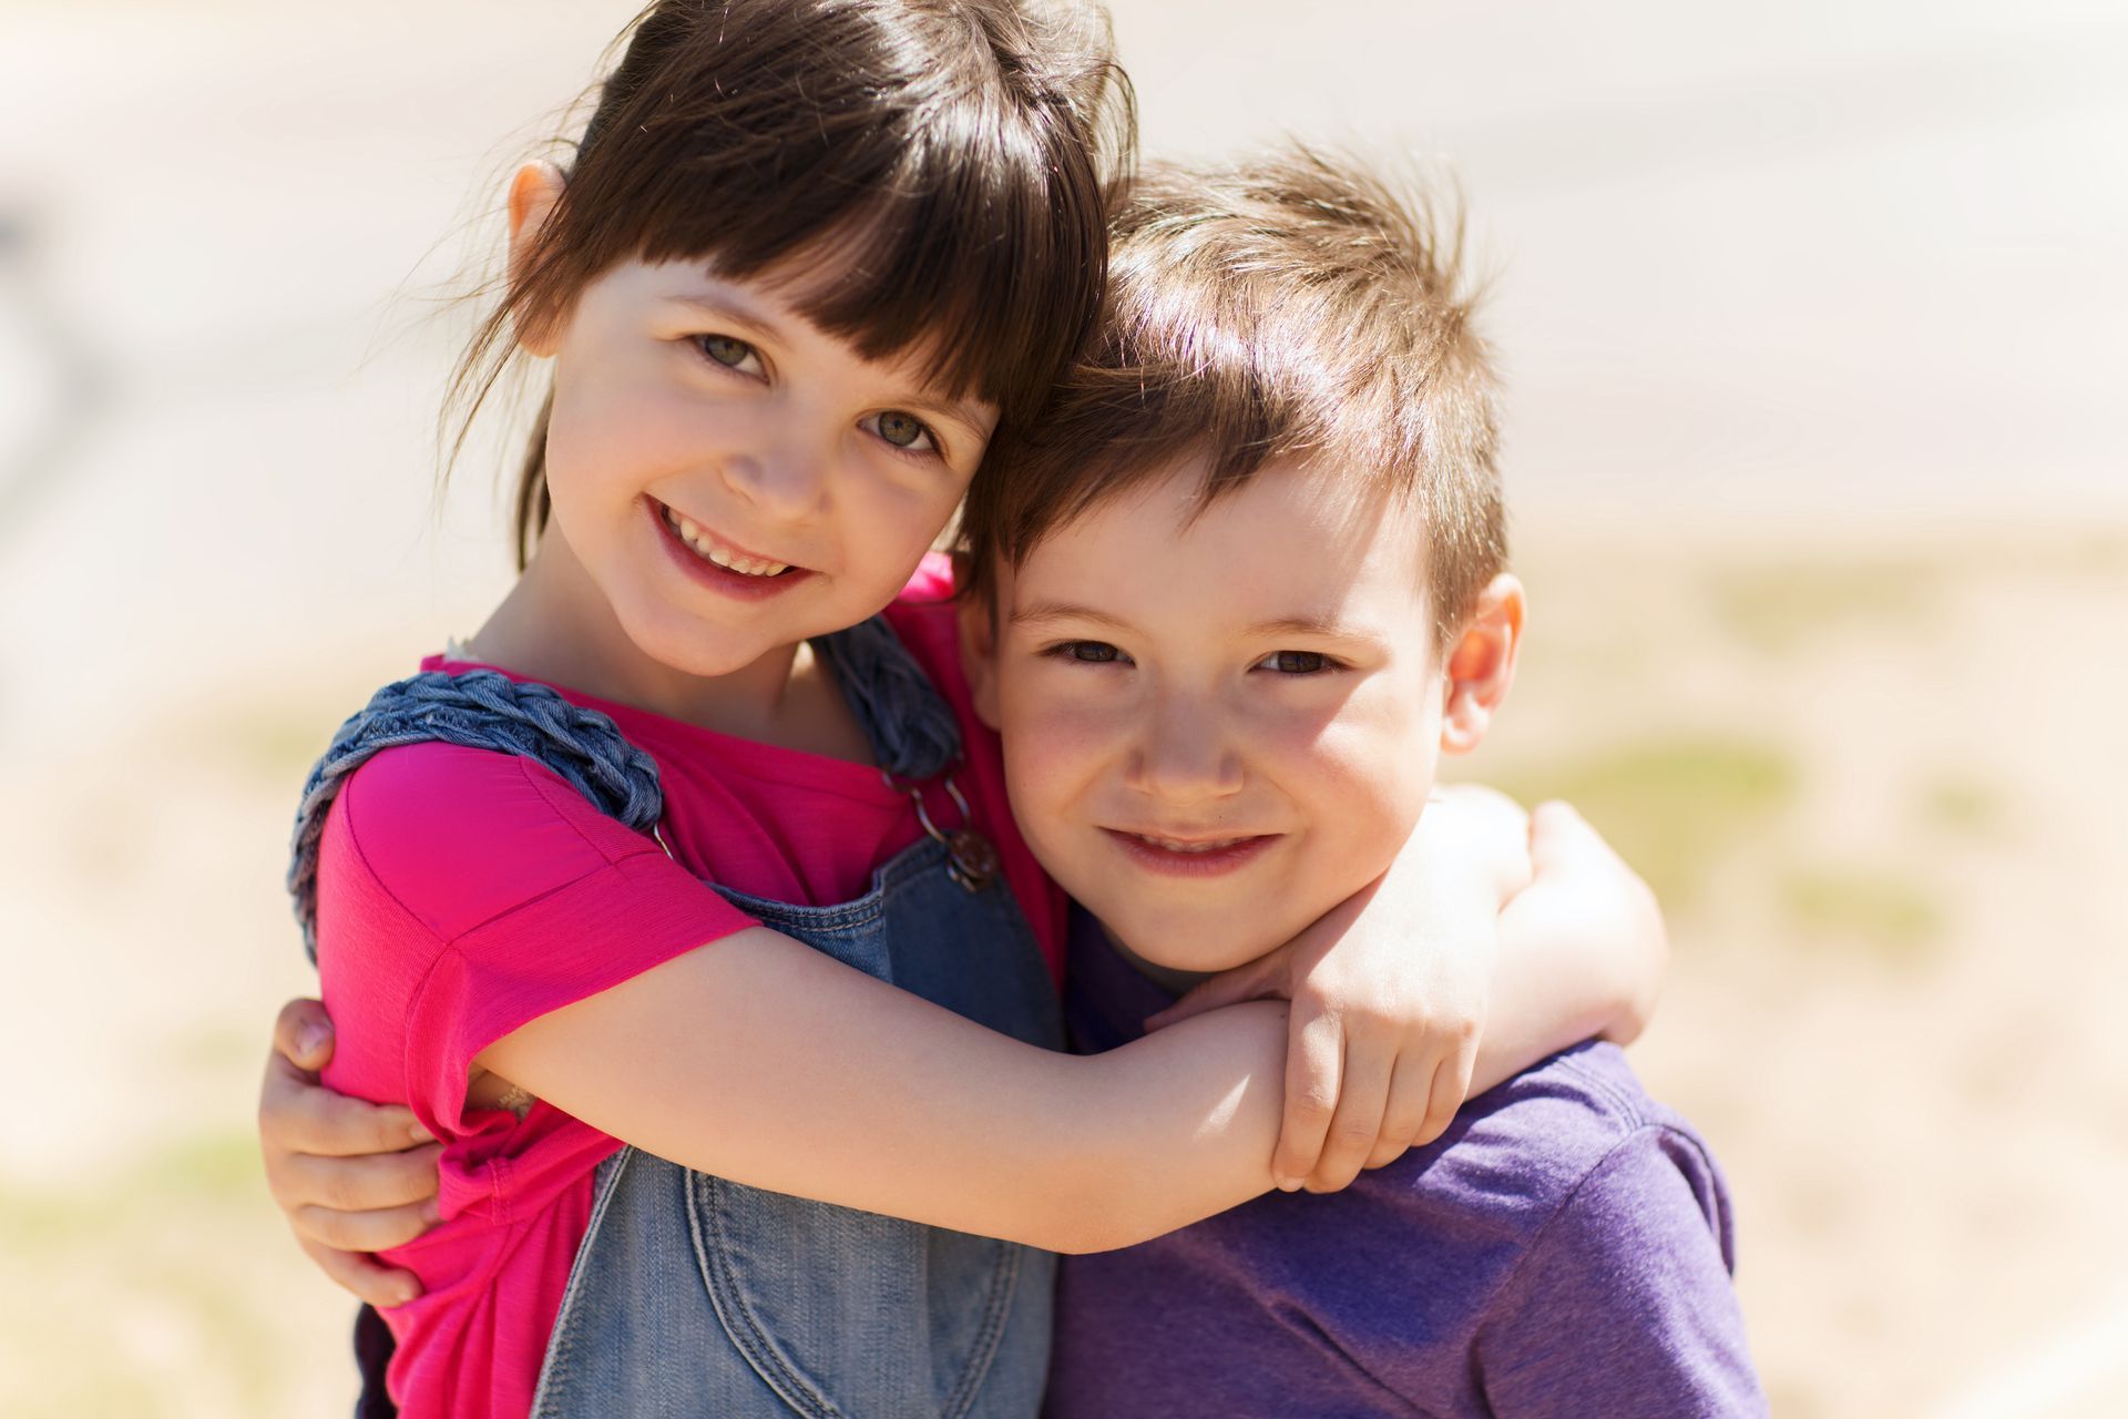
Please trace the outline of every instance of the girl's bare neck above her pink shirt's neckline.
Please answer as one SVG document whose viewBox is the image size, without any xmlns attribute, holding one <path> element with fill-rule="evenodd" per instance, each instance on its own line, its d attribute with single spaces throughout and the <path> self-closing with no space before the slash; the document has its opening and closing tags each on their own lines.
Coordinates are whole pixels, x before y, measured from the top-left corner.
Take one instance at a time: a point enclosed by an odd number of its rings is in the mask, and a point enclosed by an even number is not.
<svg viewBox="0 0 2128 1419">
<path fill-rule="evenodd" d="M 730 674 L 687 674 L 645 655 L 560 536 L 545 536 L 466 653 L 579 694 L 828 757 L 870 762 L 841 689 L 809 645 Z"/>
</svg>

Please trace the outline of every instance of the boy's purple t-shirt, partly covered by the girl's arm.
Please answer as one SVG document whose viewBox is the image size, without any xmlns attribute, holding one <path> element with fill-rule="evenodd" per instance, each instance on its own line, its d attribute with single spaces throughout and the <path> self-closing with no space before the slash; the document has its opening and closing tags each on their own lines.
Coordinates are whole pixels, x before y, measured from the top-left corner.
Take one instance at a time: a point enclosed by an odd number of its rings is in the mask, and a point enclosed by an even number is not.
<svg viewBox="0 0 2128 1419">
<path fill-rule="evenodd" d="M 1168 996 L 1075 913 L 1075 1047 Z M 1611 1045 L 1464 1104 L 1341 1193 L 1064 1257 L 1047 1419 L 1762 1415 L 1707 1145 Z"/>
</svg>

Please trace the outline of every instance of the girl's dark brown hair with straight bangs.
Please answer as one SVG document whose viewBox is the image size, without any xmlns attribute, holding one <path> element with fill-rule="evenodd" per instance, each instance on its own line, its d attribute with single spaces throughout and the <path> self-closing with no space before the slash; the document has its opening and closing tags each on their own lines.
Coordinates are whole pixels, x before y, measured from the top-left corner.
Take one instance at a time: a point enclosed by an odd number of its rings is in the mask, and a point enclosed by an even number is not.
<svg viewBox="0 0 2128 1419">
<path fill-rule="evenodd" d="M 617 262 L 781 268 L 870 360 L 915 349 L 1000 432 L 1043 402 L 1100 308 L 1104 183 L 1130 164 L 1107 15 L 1047 0 L 658 0 L 532 251 L 451 381 L 451 457 L 515 353 Z M 619 45 L 621 40 L 617 40 Z M 517 564 L 547 525 L 547 415 L 517 485 Z"/>
</svg>

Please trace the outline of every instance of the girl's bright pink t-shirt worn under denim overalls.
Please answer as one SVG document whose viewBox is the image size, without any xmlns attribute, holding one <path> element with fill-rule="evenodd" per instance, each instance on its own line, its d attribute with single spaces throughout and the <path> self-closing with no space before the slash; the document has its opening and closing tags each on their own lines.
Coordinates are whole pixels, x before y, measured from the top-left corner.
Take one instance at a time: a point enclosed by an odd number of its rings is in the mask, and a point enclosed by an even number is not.
<svg viewBox="0 0 2128 1419">
<path fill-rule="evenodd" d="M 887 619 L 953 704 L 966 738 L 955 779 L 1060 972 L 1064 900 L 1013 828 L 996 740 L 970 711 L 949 591 L 945 560 L 926 560 Z M 421 668 L 468 666 L 430 657 Z M 475 1055 L 753 925 L 706 881 L 826 906 L 862 896 L 872 870 L 921 834 L 907 794 L 877 768 L 555 689 L 611 715 L 658 759 L 677 862 L 545 766 L 453 745 L 364 764 L 319 851 L 319 974 L 338 1025 L 326 1083 L 404 1102 L 445 1142 L 440 1225 L 385 1253 L 426 1287 L 385 1313 L 398 1338 L 389 1389 L 409 1419 L 530 1410 L 589 1221 L 592 1170 L 619 1147 L 547 1104 L 523 1119 L 468 1111 Z M 955 821 L 936 785 L 926 802 L 934 821 Z"/>
</svg>

